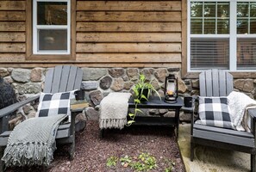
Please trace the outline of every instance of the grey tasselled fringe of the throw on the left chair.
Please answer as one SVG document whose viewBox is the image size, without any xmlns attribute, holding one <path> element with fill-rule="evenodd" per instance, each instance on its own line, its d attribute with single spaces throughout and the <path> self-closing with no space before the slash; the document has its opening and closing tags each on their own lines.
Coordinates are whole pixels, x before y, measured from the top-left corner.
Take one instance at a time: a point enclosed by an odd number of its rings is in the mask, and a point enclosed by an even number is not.
<svg viewBox="0 0 256 172">
<path fill-rule="evenodd" d="M 2 161 L 6 166 L 24 166 L 24 165 L 45 165 L 48 166 L 53 160 L 53 147 L 47 143 L 16 143 L 6 147 L 7 152 L 3 155 Z"/>
</svg>

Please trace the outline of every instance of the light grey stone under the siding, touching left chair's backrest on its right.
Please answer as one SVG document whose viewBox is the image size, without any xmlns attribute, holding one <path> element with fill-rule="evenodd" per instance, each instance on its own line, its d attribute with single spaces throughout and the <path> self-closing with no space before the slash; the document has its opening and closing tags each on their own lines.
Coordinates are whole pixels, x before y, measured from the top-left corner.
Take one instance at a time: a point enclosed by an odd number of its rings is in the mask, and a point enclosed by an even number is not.
<svg viewBox="0 0 256 172">
<path fill-rule="evenodd" d="M 84 81 L 96 81 L 101 77 L 107 75 L 107 70 L 100 68 L 83 68 L 83 80 Z"/>
</svg>

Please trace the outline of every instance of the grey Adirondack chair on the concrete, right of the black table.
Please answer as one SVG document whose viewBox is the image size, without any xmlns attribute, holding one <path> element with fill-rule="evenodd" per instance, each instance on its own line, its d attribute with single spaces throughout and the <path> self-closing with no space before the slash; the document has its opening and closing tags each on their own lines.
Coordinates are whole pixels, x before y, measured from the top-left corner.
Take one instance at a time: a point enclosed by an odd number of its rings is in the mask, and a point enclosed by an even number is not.
<svg viewBox="0 0 256 172">
<path fill-rule="evenodd" d="M 233 76 L 228 71 L 209 70 L 199 75 L 201 96 L 226 96 L 233 91 Z M 251 170 L 255 169 L 255 109 L 248 111 L 253 119 L 251 132 L 239 132 L 214 126 L 203 126 L 191 122 L 190 161 L 194 159 L 196 144 L 213 146 L 226 150 L 241 151 L 251 154 Z"/>
</svg>

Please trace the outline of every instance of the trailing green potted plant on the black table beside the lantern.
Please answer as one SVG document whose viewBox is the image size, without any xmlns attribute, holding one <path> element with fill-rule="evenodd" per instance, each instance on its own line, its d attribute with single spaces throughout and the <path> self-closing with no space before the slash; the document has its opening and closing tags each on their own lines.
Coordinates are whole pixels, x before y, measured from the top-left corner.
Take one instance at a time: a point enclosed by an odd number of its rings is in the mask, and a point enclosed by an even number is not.
<svg viewBox="0 0 256 172">
<path fill-rule="evenodd" d="M 152 81 L 147 82 L 145 75 L 140 74 L 139 81 L 134 85 L 132 88 L 134 91 L 134 113 L 129 113 L 129 120 L 128 125 L 131 126 L 135 122 L 135 116 L 138 113 L 143 114 L 143 112 L 138 108 L 138 104 L 140 104 L 142 101 L 148 101 L 148 98 L 152 93 L 156 93 L 159 96 L 159 99 L 161 99 L 159 92 L 154 89 Z"/>
</svg>

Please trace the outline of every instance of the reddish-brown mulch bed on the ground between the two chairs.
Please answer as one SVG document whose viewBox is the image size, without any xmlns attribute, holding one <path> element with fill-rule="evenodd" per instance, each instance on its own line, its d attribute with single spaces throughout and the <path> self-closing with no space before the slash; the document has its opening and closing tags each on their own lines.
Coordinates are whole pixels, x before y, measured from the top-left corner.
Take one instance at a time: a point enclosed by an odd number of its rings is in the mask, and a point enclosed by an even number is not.
<svg viewBox="0 0 256 172">
<path fill-rule="evenodd" d="M 134 171 L 120 162 L 116 167 L 107 167 L 108 157 L 138 157 L 147 152 L 157 159 L 157 169 L 165 171 L 172 162 L 172 172 L 184 172 L 178 144 L 173 136 L 173 128 L 165 126 L 129 126 L 123 130 L 107 130 L 104 138 L 99 136 L 97 121 L 88 121 L 84 131 L 76 133 L 76 154 L 69 161 L 66 146 L 59 146 L 47 171 L 50 172 L 111 172 Z M 40 171 L 41 167 L 14 168 L 7 171 Z"/>
</svg>

